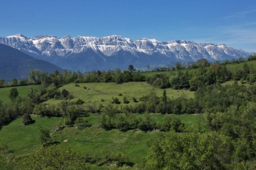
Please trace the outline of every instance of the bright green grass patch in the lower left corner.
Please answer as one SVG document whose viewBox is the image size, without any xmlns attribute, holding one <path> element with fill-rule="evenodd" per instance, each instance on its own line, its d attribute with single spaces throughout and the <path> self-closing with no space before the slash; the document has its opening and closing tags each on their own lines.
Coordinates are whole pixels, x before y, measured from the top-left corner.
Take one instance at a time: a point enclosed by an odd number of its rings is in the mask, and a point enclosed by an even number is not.
<svg viewBox="0 0 256 170">
<path fill-rule="evenodd" d="M 41 116 L 32 116 L 34 124 L 24 126 L 22 118 L 17 118 L 9 125 L 3 126 L 0 130 L 0 147 L 2 144 L 9 146 L 9 154 L 0 156 L 0 169 L 19 169 L 20 165 L 7 164 L 8 160 L 22 160 L 23 156 L 41 146 L 38 126 L 53 128 L 53 124 L 62 118 L 47 118 Z M 21 168 L 23 169 L 23 168 Z"/>
</svg>

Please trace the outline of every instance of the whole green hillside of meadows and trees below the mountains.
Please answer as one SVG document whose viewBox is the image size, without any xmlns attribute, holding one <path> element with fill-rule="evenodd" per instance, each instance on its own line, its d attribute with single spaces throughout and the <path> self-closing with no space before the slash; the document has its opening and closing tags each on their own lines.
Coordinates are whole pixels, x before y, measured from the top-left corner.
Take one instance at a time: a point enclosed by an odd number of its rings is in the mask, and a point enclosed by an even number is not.
<svg viewBox="0 0 256 170">
<path fill-rule="evenodd" d="M 254 60 L 1 80 L 0 168 L 255 169 Z"/>
</svg>

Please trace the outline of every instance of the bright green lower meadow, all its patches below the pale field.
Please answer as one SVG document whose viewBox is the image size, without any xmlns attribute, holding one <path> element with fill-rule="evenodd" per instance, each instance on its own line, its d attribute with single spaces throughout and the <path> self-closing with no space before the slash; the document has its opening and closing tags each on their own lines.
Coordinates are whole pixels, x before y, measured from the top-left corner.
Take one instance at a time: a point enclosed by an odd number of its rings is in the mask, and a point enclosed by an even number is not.
<svg viewBox="0 0 256 170">
<path fill-rule="evenodd" d="M 136 114 L 137 116 L 143 116 Z M 163 119 L 164 115 L 152 114 L 157 120 Z M 202 115 L 173 115 L 181 119 L 186 127 L 195 124 L 198 120 L 204 122 Z M 147 142 L 152 139 L 157 139 L 158 135 L 163 132 L 144 132 L 135 131 L 130 134 L 130 131 L 121 132 L 117 129 L 106 131 L 98 128 L 97 114 L 91 114 L 87 119 L 91 127 L 79 130 L 74 127 L 66 127 L 62 131 L 51 135 L 53 141 L 62 142 L 67 139 L 66 144 L 77 147 L 77 150 L 82 154 L 97 153 L 103 149 L 109 149 L 114 152 L 122 152 L 129 156 L 129 160 L 136 162 L 136 159 L 146 156 L 148 153 Z M 34 124 L 24 126 L 22 118 L 17 118 L 9 125 L 3 126 L 0 130 L 1 144 L 9 146 L 8 155 L 0 155 L 0 169 L 23 169 L 16 161 L 22 160 L 30 152 L 41 146 L 39 138 L 38 126 L 47 127 L 53 132 L 53 124 L 58 121 L 64 121 L 62 118 L 47 118 L 32 115 L 35 119 Z M 204 127 L 205 129 L 205 127 Z M 0 147 L 1 147 L 0 144 Z M 11 161 L 13 160 L 13 161 Z M 11 161 L 10 164 L 7 162 Z M 14 164 L 15 161 L 15 164 Z M 92 166 L 92 169 L 104 169 Z"/>
</svg>

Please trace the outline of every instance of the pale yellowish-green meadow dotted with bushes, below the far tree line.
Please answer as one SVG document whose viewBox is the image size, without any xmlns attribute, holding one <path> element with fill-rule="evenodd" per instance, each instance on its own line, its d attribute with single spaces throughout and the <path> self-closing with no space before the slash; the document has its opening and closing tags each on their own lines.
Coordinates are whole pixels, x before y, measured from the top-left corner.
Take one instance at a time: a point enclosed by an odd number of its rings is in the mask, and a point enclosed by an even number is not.
<svg viewBox="0 0 256 170">
<path fill-rule="evenodd" d="M 91 103 L 96 102 L 97 105 L 100 105 L 102 103 L 105 105 L 107 102 L 112 101 L 112 97 L 117 97 L 119 101 L 121 102 L 120 105 L 127 105 L 124 104 L 123 98 L 127 97 L 128 100 L 130 100 L 130 104 L 134 104 L 135 102 L 132 100 L 132 97 L 135 97 L 137 100 L 139 100 L 142 95 L 147 95 L 151 91 L 154 91 L 156 95 L 162 96 L 163 95 L 163 89 L 160 89 L 158 87 L 151 86 L 150 84 L 146 82 L 130 82 L 130 83 L 123 83 L 123 84 L 116 84 L 116 83 L 80 83 L 80 87 L 75 87 L 75 84 L 67 84 L 62 86 L 60 89 L 66 89 L 71 94 L 74 95 L 74 99 L 71 101 L 75 101 L 77 99 L 82 99 L 85 103 Z M 83 86 L 88 87 L 89 89 L 83 89 Z M 179 97 L 181 95 L 186 95 L 188 98 L 194 97 L 194 92 L 190 92 L 189 90 L 183 91 L 177 91 L 174 89 L 166 89 L 166 93 L 168 97 Z M 119 95 L 122 94 L 122 95 Z M 101 99 L 103 99 L 105 102 L 101 102 Z M 48 100 L 46 103 L 59 103 L 61 100 Z"/>
</svg>

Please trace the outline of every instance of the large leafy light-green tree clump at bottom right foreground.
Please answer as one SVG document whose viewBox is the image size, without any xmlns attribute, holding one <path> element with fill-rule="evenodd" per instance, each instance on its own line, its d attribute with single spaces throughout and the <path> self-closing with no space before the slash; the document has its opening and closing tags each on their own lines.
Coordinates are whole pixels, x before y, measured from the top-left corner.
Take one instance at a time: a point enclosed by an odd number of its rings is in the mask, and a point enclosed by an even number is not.
<svg viewBox="0 0 256 170">
<path fill-rule="evenodd" d="M 142 169 L 225 169 L 231 152 L 229 137 L 218 132 L 168 132 L 151 142 Z"/>
</svg>

